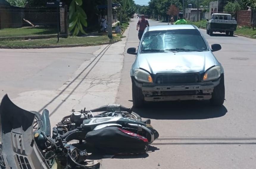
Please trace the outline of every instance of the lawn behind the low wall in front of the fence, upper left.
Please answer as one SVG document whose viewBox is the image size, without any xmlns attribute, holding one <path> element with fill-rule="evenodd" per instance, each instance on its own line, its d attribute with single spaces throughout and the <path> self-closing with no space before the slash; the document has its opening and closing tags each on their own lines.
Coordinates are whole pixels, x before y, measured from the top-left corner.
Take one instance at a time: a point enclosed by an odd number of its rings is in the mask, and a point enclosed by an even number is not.
<svg viewBox="0 0 256 169">
<path fill-rule="evenodd" d="M 23 28 L 5 28 L 0 29 L 0 37 L 14 37 L 14 36 L 31 36 L 31 35 L 47 35 L 57 34 L 56 28 L 46 27 L 23 27 Z"/>
</svg>

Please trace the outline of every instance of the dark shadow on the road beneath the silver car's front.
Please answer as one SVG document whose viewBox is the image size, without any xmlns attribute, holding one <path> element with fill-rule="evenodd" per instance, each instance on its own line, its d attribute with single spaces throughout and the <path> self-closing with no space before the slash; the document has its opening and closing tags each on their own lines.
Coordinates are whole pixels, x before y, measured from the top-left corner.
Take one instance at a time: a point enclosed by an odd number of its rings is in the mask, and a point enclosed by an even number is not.
<svg viewBox="0 0 256 169">
<path fill-rule="evenodd" d="M 149 119 L 210 119 L 224 116 L 225 106 L 211 106 L 208 101 L 149 102 L 132 111 Z"/>
</svg>

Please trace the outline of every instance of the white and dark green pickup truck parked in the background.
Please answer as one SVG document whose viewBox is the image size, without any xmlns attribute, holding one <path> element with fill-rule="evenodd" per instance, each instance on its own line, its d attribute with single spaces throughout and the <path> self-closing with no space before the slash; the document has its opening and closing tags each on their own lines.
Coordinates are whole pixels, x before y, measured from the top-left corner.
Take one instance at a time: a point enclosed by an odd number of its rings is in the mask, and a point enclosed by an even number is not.
<svg viewBox="0 0 256 169">
<path fill-rule="evenodd" d="M 237 22 L 230 14 L 215 13 L 212 14 L 211 19 L 207 20 L 207 34 L 213 35 L 213 32 L 226 33 L 226 35 L 233 36 L 236 30 Z"/>
</svg>

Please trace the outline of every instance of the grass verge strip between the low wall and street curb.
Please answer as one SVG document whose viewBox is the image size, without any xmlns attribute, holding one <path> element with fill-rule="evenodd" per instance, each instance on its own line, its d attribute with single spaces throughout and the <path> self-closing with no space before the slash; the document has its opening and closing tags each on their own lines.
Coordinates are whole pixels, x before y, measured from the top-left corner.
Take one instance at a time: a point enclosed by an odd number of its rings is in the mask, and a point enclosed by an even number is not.
<svg viewBox="0 0 256 169">
<path fill-rule="evenodd" d="M 114 40 L 120 40 L 119 36 L 115 36 Z M 38 39 L 38 40 L 25 40 L 25 41 L 0 41 L 0 46 L 8 46 L 10 48 L 29 48 L 29 46 L 53 46 L 53 45 L 67 45 L 67 44 L 81 44 L 81 45 L 96 45 L 103 42 L 110 42 L 107 36 L 96 37 L 68 37 L 60 38 L 60 42 L 57 42 L 57 38 L 54 39 Z"/>
</svg>

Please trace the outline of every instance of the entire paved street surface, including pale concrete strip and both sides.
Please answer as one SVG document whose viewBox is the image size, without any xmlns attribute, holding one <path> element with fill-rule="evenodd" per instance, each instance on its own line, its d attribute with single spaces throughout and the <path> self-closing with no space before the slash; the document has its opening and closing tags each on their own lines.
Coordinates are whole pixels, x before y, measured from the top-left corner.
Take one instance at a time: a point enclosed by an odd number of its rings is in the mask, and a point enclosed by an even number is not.
<svg viewBox="0 0 256 169">
<path fill-rule="evenodd" d="M 135 56 L 126 50 L 138 46 L 136 22 L 132 20 L 125 32 L 127 38 L 112 45 L 0 49 L 0 97 L 8 93 L 27 110 L 49 109 L 52 127 L 73 108 L 113 102 L 131 107 L 129 71 Z M 107 156 L 101 168 L 256 168 L 256 40 L 202 32 L 210 44 L 222 46 L 214 54 L 225 71 L 224 106 L 184 101 L 135 109 L 141 117 L 152 119 L 160 138 L 147 154 Z"/>
</svg>

